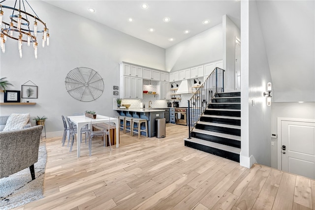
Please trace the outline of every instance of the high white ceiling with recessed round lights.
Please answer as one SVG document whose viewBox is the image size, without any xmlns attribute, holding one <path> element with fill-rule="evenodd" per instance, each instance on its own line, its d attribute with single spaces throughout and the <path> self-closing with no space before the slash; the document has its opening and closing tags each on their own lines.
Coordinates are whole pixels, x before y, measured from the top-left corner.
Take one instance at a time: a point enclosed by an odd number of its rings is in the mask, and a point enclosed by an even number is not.
<svg viewBox="0 0 315 210">
<path fill-rule="evenodd" d="M 227 14 L 241 25 L 241 2 L 236 0 L 44 0 L 115 30 L 168 48 L 222 23 Z M 146 3 L 147 9 L 141 5 Z M 88 8 L 94 8 L 91 13 Z M 170 21 L 165 23 L 163 18 Z M 132 18 L 133 22 L 128 19 Z M 209 20 L 209 24 L 203 24 Z M 150 32 L 149 29 L 154 29 Z M 184 31 L 189 30 L 188 34 Z M 173 38 L 173 41 L 169 41 Z"/>
</svg>

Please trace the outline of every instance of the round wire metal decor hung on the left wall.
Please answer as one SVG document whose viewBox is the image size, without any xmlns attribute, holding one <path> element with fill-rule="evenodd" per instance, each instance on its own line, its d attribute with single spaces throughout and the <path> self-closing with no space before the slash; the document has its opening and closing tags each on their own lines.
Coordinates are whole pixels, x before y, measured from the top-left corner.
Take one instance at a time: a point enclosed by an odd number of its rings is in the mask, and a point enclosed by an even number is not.
<svg viewBox="0 0 315 210">
<path fill-rule="evenodd" d="M 77 67 L 65 77 L 65 89 L 79 101 L 94 101 L 104 90 L 104 81 L 93 69 Z"/>
</svg>

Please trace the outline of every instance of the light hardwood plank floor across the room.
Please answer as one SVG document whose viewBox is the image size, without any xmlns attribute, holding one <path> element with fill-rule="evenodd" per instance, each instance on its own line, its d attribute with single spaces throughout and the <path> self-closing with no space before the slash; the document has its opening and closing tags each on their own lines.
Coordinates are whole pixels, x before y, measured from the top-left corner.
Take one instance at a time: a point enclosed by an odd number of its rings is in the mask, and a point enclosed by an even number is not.
<svg viewBox="0 0 315 210">
<path fill-rule="evenodd" d="M 188 128 L 167 124 L 165 138 L 129 137 L 121 147 L 93 142 L 81 157 L 46 140 L 44 196 L 16 210 L 310 210 L 315 181 L 239 163 L 184 146 Z"/>
</svg>

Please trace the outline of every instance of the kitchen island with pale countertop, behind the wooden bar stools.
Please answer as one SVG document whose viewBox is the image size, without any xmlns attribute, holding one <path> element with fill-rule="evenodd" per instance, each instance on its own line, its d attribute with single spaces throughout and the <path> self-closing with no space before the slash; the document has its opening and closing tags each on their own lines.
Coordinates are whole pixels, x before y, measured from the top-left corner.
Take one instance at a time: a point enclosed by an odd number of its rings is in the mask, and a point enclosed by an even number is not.
<svg viewBox="0 0 315 210">
<path fill-rule="evenodd" d="M 156 119 L 164 118 L 164 109 L 114 109 L 119 115 L 148 120 L 148 137 L 157 136 Z"/>
</svg>

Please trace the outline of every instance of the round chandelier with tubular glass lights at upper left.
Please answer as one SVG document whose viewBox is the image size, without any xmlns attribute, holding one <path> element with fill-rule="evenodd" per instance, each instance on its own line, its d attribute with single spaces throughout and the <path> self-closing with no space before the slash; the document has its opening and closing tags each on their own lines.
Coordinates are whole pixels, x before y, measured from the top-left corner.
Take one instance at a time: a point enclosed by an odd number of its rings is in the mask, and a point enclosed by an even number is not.
<svg viewBox="0 0 315 210">
<path fill-rule="evenodd" d="M 40 20 L 27 0 L 15 0 L 14 7 L 2 5 L 0 1 L 0 47 L 5 53 L 5 42 L 7 37 L 18 41 L 20 58 L 22 58 L 23 42 L 28 46 L 33 43 L 35 59 L 37 59 L 37 39 L 38 33 L 42 33 L 42 47 L 49 46 L 49 33 L 46 24 Z M 26 12 L 25 7 L 29 6 L 34 14 Z M 7 19 L 5 19 L 6 16 Z M 32 22 L 32 24 L 31 24 Z"/>
</svg>

